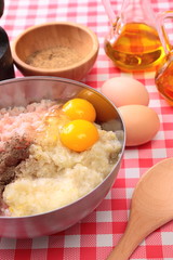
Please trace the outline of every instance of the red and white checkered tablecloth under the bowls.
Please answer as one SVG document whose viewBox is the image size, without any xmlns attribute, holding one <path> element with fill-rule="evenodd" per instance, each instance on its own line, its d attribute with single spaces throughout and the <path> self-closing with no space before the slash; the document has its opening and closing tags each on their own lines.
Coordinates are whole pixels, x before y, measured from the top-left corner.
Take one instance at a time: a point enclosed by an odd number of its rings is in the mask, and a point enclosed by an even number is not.
<svg viewBox="0 0 173 260">
<path fill-rule="evenodd" d="M 152 0 L 155 11 L 173 10 L 172 0 Z M 122 0 L 114 0 L 120 10 Z M 105 55 L 104 37 L 108 18 L 104 6 L 95 0 L 5 0 L 0 23 L 13 40 L 25 28 L 52 21 L 70 21 L 89 26 L 99 40 L 97 61 L 83 81 L 99 90 L 102 83 L 123 76 Z M 171 31 L 171 28 L 169 26 Z M 170 37 L 173 39 L 172 32 Z M 16 70 L 16 76 L 22 77 Z M 149 106 L 159 115 L 161 128 L 155 139 L 139 147 L 127 148 L 118 178 L 102 204 L 90 216 L 70 229 L 34 239 L 0 238 L 0 260 L 104 260 L 122 236 L 130 202 L 139 177 L 154 164 L 173 155 L 173 108 L 159 95 L 154 73 L 128 74 L 142 81 L 150 95 Z M 135 234 L 134 234 L 135 235 Z M 131 259 L 173 259 L 173 222 L 149 235 Z M 118 260 L 118 259 L 117 259 Z"/>
</svg>

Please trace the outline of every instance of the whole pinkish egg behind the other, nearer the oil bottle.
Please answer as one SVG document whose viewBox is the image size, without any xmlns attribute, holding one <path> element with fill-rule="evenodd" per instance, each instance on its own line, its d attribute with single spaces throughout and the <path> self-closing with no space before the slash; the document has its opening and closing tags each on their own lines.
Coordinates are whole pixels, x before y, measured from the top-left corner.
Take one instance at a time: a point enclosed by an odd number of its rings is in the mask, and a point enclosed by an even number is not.
<svg viewBox="0 0 173 260">
<path fill-rule="evenodd" d="M 133 78 L 110 78 L 104 82 L 101 91 L 117 107 L 132 104 L 147 106 L 149 104 L 149 94 L 145 86 Z"/>
</svg>

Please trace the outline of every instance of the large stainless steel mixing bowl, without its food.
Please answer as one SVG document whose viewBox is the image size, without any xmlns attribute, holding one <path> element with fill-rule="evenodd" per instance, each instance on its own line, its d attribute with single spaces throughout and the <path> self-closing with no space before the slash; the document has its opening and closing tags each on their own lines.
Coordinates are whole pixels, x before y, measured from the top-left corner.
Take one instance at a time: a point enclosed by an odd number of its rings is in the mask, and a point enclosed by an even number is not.
<svg viewBox="0 0 173 260">
<path fill-rule="evenodd" d="M 75 96 L 81 96 L 93 103 L 98 122 L 116 121 L 116 126 L 118 122 L 119 129 L 124 131 L 118 109 L 103 94 L 84 83 L 64 78 L 37 76 L 0 82 L 0 108 L 27 105 L 42 99 L 65 102 Z M 110 125 L 110 130 L 114 130 L 111 128 L 115 128 L 114 123 Z M 49 235 L 66 230 L 86 217 L 104 199 L 116 180 L 124 151 L 124 138 L 121 142 L 122 151 L 112 171 L 92 192 L 72 204 L 45 213 L 18 218 L 0 217 L 0 236 L 28 238 Z"/>
</svg>

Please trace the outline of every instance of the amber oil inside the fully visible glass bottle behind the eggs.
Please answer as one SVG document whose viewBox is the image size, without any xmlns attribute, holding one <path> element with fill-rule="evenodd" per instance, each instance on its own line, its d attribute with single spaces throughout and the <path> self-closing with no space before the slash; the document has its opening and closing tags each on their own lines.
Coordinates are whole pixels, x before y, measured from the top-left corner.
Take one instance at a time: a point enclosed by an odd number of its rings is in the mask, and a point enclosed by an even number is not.
<svg viewBox="0 0 173 260">
<path fill-rule="evenodd" d="M 105 40 L 105 52 L 118 67 L 127 72 L 156 69 L 164 56 L 157 30 L 138 23 L 124 25 L 120 35 Z"/>
</svg>

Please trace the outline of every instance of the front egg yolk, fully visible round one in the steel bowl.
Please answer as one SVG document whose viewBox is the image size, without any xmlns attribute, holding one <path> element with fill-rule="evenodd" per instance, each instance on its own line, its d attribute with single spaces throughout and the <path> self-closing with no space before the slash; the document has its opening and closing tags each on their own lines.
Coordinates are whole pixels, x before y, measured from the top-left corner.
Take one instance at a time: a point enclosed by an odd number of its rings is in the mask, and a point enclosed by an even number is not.
<svg viewBox="0 0 173 260">
<path fill-rule="evenodd" d="M 66 147 L 75 152 L 83 152 L 98 140 L 98 131 L 92 122 L 77 119 L 66 123 L 59 136 Z"/>
</svg>

